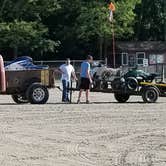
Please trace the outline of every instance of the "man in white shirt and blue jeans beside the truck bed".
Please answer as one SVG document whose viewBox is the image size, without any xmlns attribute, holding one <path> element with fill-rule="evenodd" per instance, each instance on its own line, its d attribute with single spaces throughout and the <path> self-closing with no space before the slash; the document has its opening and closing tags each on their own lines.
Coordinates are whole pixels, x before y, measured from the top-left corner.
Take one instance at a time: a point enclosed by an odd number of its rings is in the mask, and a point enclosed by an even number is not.
<svg viewBox="0 0 166 166">
<path fill-rule="evenodd" d="M 66 63 L 59 67 L 59 71 L 62 74 L 61 80 L 63 85 L 63 93 L 62 93 L 62 102 L 69 102 L 69 87 L 71 76 L 77 80 L 74 67 L 70 64 L 70 59 L 66 60 Z"/>
</svg>

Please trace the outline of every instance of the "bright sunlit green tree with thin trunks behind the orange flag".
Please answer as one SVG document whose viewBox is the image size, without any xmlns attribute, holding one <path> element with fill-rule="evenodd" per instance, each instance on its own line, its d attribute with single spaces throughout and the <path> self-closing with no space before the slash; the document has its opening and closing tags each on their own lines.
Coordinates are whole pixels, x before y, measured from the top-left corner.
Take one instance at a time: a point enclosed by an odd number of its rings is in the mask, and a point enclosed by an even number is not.
<svg viewBox="0 0 166 166">
<path fill-rule="evenodd" d="M 114 30 L 116 39 L 130 39 L 134 34 L 134 9 L 139 0 L 117 1 L 114 14 Z M 107 55 L 108 40 L 112 38 L 113 27 L 108 20 L 108 4 L 103 1 L 83 2 L 75 29 L 79 39 L 83 41 L 98 40 L 100 58 Z"/>
</svg>

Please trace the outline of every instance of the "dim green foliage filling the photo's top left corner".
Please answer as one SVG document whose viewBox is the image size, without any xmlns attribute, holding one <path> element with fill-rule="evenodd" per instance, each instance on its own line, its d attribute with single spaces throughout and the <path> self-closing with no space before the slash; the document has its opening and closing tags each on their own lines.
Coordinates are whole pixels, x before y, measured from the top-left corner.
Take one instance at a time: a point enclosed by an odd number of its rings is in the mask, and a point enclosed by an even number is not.
<svg viewBox="0 0 166 166">
<path fill-rule="evenodd" d="M 59 7 L 57 0 L 1 0 L 2 20 L 42 20 Z"/>
</svg>

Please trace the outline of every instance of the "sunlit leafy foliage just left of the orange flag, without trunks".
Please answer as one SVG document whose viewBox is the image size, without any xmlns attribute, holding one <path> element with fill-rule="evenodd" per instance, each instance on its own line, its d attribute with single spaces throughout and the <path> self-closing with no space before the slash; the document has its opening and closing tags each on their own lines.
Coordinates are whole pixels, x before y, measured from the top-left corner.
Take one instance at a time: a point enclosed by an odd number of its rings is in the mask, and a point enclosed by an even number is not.
<svg viewBox="0 0 166 166">
<path fill-rule="evenodd" d="M 105 4 L 106 5 L 106 4 Z M 75 29 L 79 39 L 89 41 L 96 37 L 111 34 L 111 24 L 108 21 L 107 6 L 101 2 L 86 2 L 80 8 Z"/>
</svg>

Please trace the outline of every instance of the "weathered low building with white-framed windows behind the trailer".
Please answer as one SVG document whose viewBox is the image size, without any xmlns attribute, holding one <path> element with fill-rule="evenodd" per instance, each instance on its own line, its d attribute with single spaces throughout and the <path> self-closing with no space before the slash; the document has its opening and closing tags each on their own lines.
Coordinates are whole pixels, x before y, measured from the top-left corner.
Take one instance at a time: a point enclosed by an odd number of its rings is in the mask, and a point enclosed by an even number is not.
<svg viewBox="0 0 166 166">
<path fill-rule="evenodd" d="M 110 61 L 113 59 L 110 53 Z M 138 67 L 148 72 L 166 71 L 166 42 L 116 42 L 116 65 L 124 69 Z M 112 66 L 112 64 L 111 64 Z M 164 66 L 164 67 L 163 67 Z M 166 72 L 165 72 L 166 73 Z"/>
</svg>

